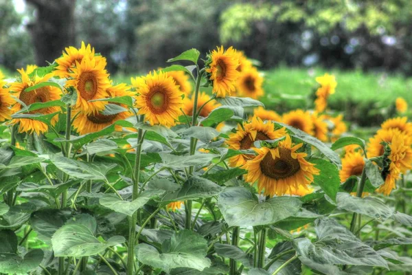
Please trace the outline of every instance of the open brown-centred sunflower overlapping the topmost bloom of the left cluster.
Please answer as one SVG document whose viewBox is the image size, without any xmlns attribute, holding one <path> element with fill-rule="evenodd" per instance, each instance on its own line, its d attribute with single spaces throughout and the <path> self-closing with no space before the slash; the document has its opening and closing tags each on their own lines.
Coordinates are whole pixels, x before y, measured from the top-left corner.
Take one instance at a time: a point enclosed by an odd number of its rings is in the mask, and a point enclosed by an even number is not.
<svg viewBox="0 0 412 275">
<path fill-rule="evenodd" d="M 66 85 L 73 86 L 77 91 L 76 109 L 87 114 L 103 111 L 105 102 L 89 100 L 108 97 L 110 81 L 104 66 L 105 63 L 95 58 L 83 58 L 81 63 L 76 61 L 76 67 L 71 68 L 71 79 L 67 80 Z"/>
</svg>

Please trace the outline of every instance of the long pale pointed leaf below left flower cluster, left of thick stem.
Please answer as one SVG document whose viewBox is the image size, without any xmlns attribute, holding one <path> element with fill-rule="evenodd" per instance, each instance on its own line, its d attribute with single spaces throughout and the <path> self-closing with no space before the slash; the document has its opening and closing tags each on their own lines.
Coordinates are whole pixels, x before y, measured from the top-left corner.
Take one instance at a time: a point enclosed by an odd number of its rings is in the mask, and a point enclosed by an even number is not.
<svg viewBox="0 0 412 275">
<path fill-rule="evenodd" d="M 50 155 L 50 160 L 57 168 L 79 179 L 106 179 L 106 173 L 117 164 L 93 164 L 79 162 L 59 155 Z"/>
</svg>

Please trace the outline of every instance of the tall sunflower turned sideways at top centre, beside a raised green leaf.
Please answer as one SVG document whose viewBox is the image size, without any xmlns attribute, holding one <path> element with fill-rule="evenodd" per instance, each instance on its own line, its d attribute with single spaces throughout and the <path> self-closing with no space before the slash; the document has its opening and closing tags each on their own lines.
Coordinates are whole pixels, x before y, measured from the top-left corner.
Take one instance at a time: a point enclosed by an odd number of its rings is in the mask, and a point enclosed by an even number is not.
<svg viewBox="0 0 412 275">
<path fill-rule="evenodd" d="M 239 58 L 236 50 L 229 47 L 226 51 L 222 47 L 213 50 L 206 62 L 209 80 L 213 83 L 213 92 L 220 98 L 225 98 L 227 94 L 236 90 L 236 80 L 238 80 Z"/>
</svg>

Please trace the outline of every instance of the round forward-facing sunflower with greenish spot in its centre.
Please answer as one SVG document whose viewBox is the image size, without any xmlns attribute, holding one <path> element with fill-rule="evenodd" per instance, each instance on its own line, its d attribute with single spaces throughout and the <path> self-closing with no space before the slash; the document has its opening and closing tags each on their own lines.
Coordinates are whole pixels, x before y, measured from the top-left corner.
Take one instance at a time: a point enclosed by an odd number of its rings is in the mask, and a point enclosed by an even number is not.
<svg viewBox="0 0 412 275">
<path fill-rule="evenodd" d="M 153 72 L 140 78 L 132 78 L 132 85 L 136 87 L 139 96 L 136 97 L 136 106 L 139 114 L 146 115 L 150 124 L 174 126 L 183 104 L 183 93 L 173 78 L 163 72 Z"/>
</svg>

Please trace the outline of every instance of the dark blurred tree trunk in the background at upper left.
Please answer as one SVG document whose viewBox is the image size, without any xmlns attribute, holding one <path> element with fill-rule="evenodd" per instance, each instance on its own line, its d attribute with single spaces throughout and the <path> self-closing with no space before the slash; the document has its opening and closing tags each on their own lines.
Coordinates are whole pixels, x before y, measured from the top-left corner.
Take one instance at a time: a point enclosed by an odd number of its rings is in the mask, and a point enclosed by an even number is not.
<svg viewBox="0 0 412 275">
<path fill-rule="evenodd" d="M 26 0 L 36 8 L 36 21 L 28 25 L 34 45 L 36 65 L 47 65 L 75 42 L 76 0 Z"/>
</svg>

